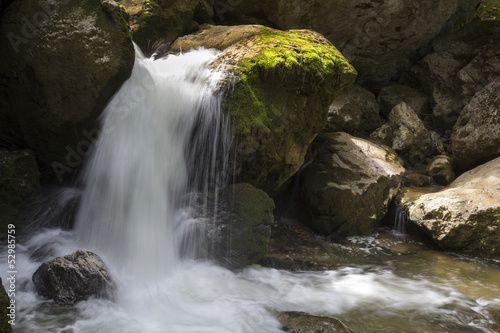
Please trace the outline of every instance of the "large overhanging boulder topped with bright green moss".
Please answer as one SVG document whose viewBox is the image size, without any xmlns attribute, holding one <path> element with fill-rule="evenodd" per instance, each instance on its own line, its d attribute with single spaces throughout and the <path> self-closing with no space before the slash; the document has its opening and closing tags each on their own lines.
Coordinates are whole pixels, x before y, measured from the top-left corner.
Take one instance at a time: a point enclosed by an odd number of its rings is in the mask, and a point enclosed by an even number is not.
<svg viewBox="0 0 500 333">
<path fill-rule="evenodd" d="M 263 26 L 212 27 L 178 39 L 172 51 L 223 50 L 223 109 L 236 137 L 236 176 L 274 193 L 304 163 L 332 100 L 356 71 L 323 36 Z"/>
</svg>

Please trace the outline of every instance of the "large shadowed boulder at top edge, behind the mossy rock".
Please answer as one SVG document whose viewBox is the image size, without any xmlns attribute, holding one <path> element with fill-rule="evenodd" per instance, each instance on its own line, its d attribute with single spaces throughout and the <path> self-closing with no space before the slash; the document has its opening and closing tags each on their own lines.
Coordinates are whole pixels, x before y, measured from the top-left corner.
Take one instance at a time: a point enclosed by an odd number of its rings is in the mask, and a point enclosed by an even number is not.
<svg viewBox="0 0 500 333">
<path fill-rule="evenodd" d="M 216 0 L 220 24 L 312 29 L 325 35 L 360 73 L 364 86 L 385 86 L 443 29 L 472 18 L 479 0 Z"/>
</svg>

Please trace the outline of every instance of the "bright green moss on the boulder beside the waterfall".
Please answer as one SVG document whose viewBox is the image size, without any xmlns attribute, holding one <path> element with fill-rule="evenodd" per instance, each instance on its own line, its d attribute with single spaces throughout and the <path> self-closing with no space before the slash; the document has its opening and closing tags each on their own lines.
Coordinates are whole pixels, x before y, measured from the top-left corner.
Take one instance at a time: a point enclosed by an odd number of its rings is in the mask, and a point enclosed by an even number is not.
<svg viewBox="0 0 500 333">
<path fill-rule="evenodd" d="M 278 31 L 262 28 L 252 40 L 260 49 L 251 58 L 237 64 L 234 93 L 226 99 L 225 109 L 235 121 L 237 134 L 251 133 L 256 128 L 269 129 L 272 119 L 286 109 L 287 98 L 274 96 L 274 103 L 264 103 L 265 83 L 289 85 L 299 95 L 325 83 L 333 76 L 356 76 L 356 70 L 330 43 L 321 42 L 312 34 L 303 31 Z M 325 85 L 326 94 L 332 94 L 335 87 Z"/>
</svg>

